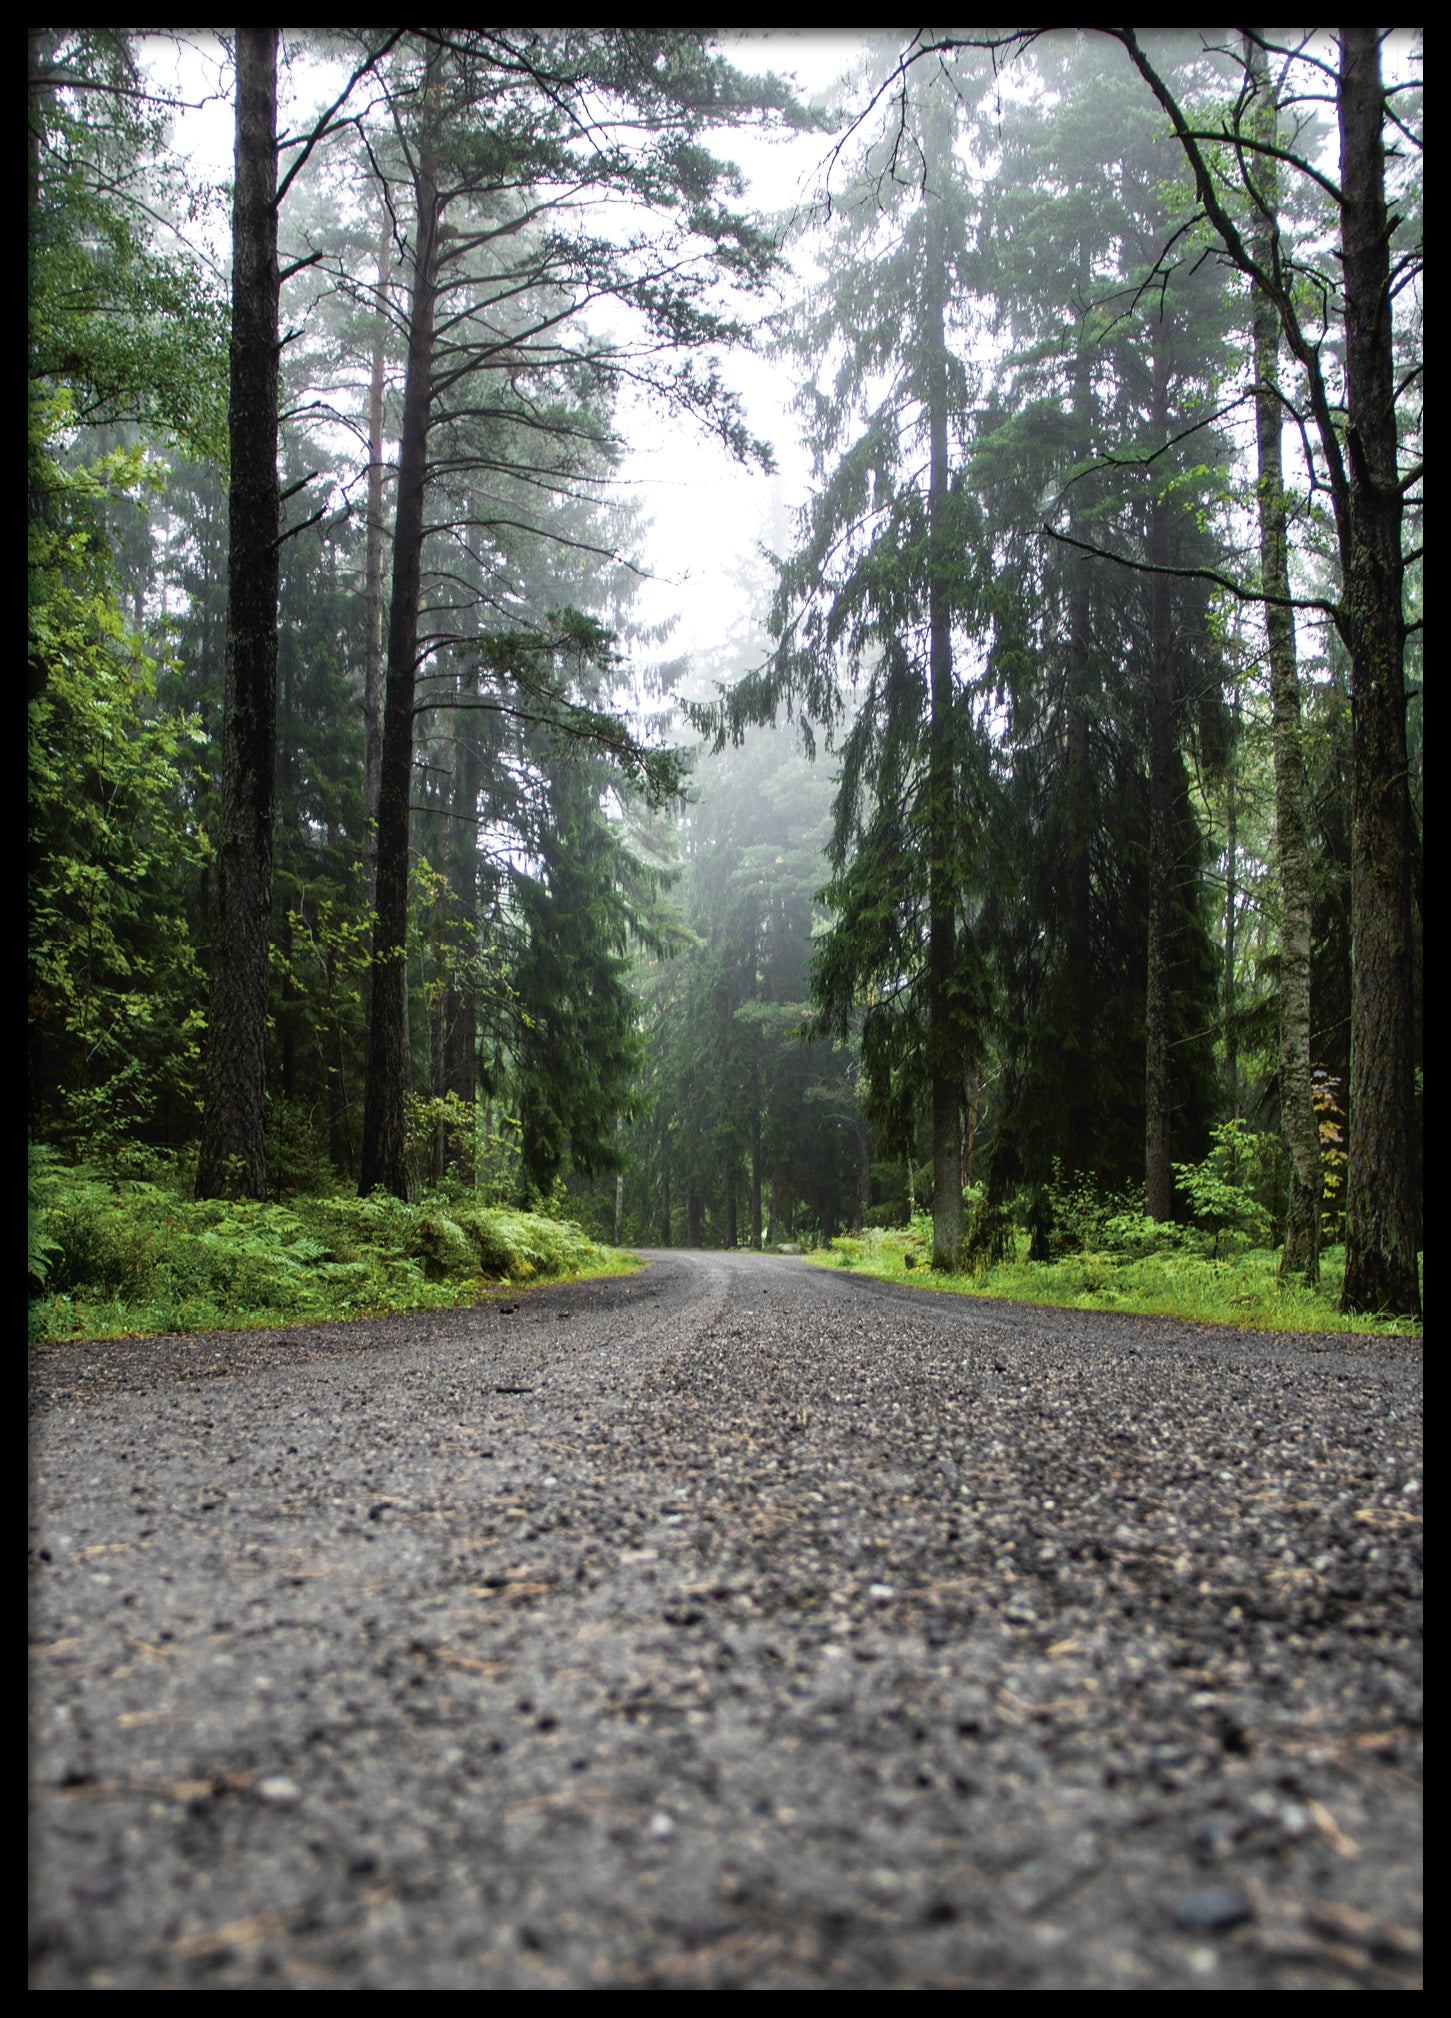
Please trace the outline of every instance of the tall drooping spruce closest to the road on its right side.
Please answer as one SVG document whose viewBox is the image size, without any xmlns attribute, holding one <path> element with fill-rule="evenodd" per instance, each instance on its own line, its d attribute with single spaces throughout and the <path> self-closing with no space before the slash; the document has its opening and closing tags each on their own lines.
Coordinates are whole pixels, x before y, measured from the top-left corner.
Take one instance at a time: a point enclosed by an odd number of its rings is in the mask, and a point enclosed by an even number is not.
<svg viewBox="0 0 1451 2018">
<path fill-rule="evenodd" d="M 735 722 L 789 696 L 831 724 L 846 706 L 840 666 L 864 680 L 835 805 L 838 916 L 813 993 L 838 1037 L 864 1011 L 872 1112 L 886 1120 L 904 1086 L 930 1102 L 944 1269 L 963 1239 L 963 1086 L 985 995 L 969 866 L 985 745 L 955 656 L 963 630 L 985 626 L 991 589 L 977 507 L 951 462 L 967 404 L 946 315 L 969 256 L 957 103 L 951 79 L 912 79 L 840 204 L 829 278 L 793 337 L 815 373 L 803 406 L 823 482 L 781 573 L 769 674 L 731 696 Z"/>
</svg>

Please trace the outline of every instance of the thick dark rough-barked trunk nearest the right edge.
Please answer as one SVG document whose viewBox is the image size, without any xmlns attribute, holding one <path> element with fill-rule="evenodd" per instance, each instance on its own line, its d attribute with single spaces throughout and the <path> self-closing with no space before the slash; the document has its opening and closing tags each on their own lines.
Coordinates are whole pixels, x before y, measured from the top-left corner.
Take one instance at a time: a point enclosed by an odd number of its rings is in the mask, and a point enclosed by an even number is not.
<svg viewBox="0 0 1451 2018">
<path fill-rule="evenodd" d="M 1421 1316 L 1415 1158 L 1411 789 L 1403 492 L 1390 345 L 1390 228 L 1376 28 L 1340 30 L 1340 250 L 1346 291 L 1350 648 L 1350 1140 L 1340 1308 Z"/>
</svg>

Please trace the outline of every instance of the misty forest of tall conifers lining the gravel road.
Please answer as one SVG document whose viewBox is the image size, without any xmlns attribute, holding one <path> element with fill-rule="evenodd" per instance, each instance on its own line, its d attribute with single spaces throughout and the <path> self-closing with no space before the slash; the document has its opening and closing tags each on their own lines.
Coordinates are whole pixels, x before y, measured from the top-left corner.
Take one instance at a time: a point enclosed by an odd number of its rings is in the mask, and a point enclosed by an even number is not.
<svg viewBox="0 0 1451 2018">
<path fill-rule="evenodd" d="M 1419 1322 L 1419 32 L 208 46 L 220 180 L 28 38 L 40 1332 L 264 1213 Z M 706 646 L 642 440 L 777 472 Z"/>
</svg>

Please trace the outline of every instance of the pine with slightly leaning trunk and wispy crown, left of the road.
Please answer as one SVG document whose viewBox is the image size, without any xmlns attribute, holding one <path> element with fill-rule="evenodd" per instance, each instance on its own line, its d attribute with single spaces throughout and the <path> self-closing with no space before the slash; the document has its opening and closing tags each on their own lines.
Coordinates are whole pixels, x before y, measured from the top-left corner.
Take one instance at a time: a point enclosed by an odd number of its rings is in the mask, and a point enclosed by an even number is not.
<svg viewBox="0 0 1451 2018">
<path fill-rule="evenodd" d="M 394 591 L 377 833 L 377 930 L 369 1023 L 361 1185 L 398 1195 L 416 1189 L 408 1148 L 408 787 L 420 656 L 424 517 L 430 430 L 511 408 L 549 446 L 577 426 L 581 385 L 605 387 L 620 359 L 573 323 L 583 301 L 609 293 L 648 325 L 632 359 L 678 410 L 704 416 L 737 452 L 745 430 L 714 373 L 690 353 L 729 339 L 735 325 L 702 305 L 700 272 L 716 266 L 759 287 L 769 240 L 722 200 L 729 174 L 696 141 L 708 115 L 733 119 L 781 105 L 767 85 L 751 91 L 729 65 L 684 32 L 466 30 L 420 34 L 418 54 L 394 71 L 394 107 L 412 186 L 412 299 L 398 460 Z M 650 143 L 632 143 L 644 123 Z M 650 204 L 664 238 L 620 242 L 571 216 L 581 184 L 597 196 Z M 444 317 L 442 331 L 438 325 Z M 571 341 L 571 329 L 575 331 Z M 660 363 L 650 363 L 658 355 Z M 537 420 L 517 398 L 537 373 L 549 402 Z M 500 387 L 496 394 L 490 387 Z M 476 450 L 474 450 L 476 454 Z M 432 468 L 440 464 L 432 450 Z M 567 488 L 573 470 L 543 482 Z M 460 529 L 464 545 L 474 527 Z M 559 696 L 553 696 L 555 700 Z M 575 716 L 581 731 L 624 753 L 620 724 Z"/>
</svg>

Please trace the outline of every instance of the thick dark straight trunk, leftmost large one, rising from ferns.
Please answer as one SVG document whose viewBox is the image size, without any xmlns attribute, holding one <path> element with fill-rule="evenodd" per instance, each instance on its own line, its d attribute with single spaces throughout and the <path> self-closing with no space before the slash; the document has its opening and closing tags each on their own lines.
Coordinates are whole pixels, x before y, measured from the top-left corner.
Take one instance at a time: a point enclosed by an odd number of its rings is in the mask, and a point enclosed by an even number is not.
<svg viewBox="0 0 1451 2018">
<path fill-rule="evenodd" d="M 276 28 L 238 28 L 222 817 L 198 1199 L 260 1199 L 266 1189 L 281 531 L 276 303 Z"/>
</svg>

